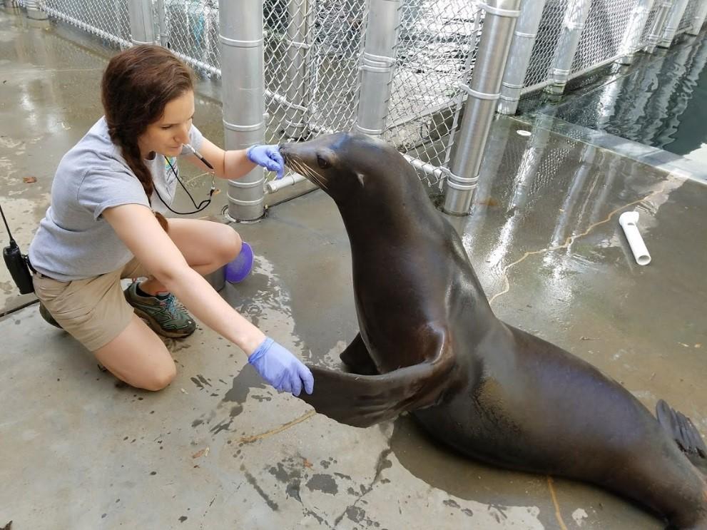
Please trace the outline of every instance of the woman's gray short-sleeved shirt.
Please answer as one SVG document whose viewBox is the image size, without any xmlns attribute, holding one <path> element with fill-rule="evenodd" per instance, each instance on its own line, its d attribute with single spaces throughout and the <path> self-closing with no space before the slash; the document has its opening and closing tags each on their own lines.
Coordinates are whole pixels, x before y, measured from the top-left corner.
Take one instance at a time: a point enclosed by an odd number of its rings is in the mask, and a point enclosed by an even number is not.
<svg viewBox="0 0 707 530">
<path fill-rule="evenodd" d="M 195 149 L 200 148 L 203 136 L 194 126 L 189 140 Z M 176 168 L 176 160 L 171 161 Z M 151 208 L 165 213 L 167 208 L 157 193 L 171 205 L 177 180 L 164 156 L 156 155 L 145 163 L 156 188 Z M 29 245 L 32 266 L 63 282 L 123 267 L 133 254 L 101 215 L 106 208 L 123 204 L 149 205 L 142 184 L 108 136 L 103 117 L 59 162 L 51 185 L 51 205 Z"/>
</svg>

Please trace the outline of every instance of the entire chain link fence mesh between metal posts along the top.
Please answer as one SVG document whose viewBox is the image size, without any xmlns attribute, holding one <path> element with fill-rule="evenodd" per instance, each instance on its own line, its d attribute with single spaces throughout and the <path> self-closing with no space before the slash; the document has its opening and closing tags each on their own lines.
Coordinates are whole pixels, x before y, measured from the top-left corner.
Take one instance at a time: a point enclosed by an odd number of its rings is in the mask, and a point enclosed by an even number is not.
<svg viewBox="0 0 707 530">
<path fill-rule="evenodd" d="M 125 48 L 131 46 L 128 1 L 38 0 L 38 4 L 50 16 Z M 151 3 L 160 44 L 196 71 L 219 77 L 218 0 L 145 1 Z M 566 12 L 578 1 L 544 4 L 524 93 L 551 83 Z M 619 58 L 639 1 L 591 0 L 570 77 Z M 694 24 L 705 1 L 688 2 L 678 34 Z M 27 1 L 17 3 L 26 6 Z M 654 2 L 648 14 L 641 43 L 646 43 L 658 4 Z M 369 6 L 370 0 L 264 1 L 268 143 L 355 128 Z M 434 169 L 449 167 L 466 98 L 460 83 L 470 82 L 484 11 L 475 0 L 401 0 L 399 14 L 382 136 L 421 162 L 416 167 L 422 180 L 440 185 L 444 173 Z"/>
</svg>

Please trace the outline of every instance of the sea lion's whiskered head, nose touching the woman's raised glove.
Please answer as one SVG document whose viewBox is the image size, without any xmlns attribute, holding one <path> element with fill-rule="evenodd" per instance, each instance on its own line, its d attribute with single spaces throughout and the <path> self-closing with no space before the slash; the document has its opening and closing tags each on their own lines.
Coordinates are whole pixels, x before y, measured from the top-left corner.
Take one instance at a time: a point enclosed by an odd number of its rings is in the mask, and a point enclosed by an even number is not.
<svg viewBox="0 0 707 530">
<path fill-rule="evenodd" d="M 402 183 L 396 179 L 414 172 L 390 144 L 360 133 L 325 134 L 306 142 L 284 143 L 280 153 L 288 168 L 317 184 L 339 204 L 360 193 L 385 197 L 389 190 L 400 190 Z"/>
</svg>

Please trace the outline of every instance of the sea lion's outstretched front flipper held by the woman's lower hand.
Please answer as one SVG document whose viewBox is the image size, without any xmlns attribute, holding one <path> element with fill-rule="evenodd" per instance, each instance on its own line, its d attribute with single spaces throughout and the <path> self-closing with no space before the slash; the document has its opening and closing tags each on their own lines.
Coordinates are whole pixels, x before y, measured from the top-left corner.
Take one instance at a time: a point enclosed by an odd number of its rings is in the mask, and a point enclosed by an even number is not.
<svg viewBox="0 0 707 530">
<path fill-rule="evenodd" d="M 406 410 L 436 404 L 455 382 L 457 363 L 444 342 L 432 361 L 380 375 L 346 374 L 310 366 L 314 392 L 300 394 L 320 414 L 354 427 L 369 427 Z"/>
</svg>

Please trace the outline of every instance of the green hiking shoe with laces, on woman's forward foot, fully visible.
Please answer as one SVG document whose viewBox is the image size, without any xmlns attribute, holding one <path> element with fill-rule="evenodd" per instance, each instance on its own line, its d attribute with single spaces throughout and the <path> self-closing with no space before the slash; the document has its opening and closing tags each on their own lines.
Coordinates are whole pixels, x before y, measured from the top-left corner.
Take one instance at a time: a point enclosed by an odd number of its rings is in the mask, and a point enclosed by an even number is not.
<svg viewBox="0 0 707 530">
<path fill-rule="evenodd" d="M 135 314 L 145 320 L 154 332 L 163 337 L 183 339 L 196 330 L 196 322 L 171 293 L 166 297 L 141 296 L 138 282 L 132 282 L 124 291 Z"/>
</svg>

